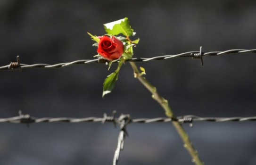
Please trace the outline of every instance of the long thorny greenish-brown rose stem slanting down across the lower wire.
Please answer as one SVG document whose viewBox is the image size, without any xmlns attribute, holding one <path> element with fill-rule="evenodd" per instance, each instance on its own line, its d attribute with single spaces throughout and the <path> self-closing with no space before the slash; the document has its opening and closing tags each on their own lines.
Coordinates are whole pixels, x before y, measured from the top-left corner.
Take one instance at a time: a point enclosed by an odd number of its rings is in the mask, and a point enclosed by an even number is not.
<svg viewBox="0 0 256 165">
<path fill-rule="evenodd" d="M 140 71 L 134 62 L 130 62 L 130 64 L 134 71 L 134 77 L 137 78 L 152 93 L 152 98 L 155 99 L 164 108 L 165 115 L 170 118 L 175 118 L 173 110 L 168 105 L 168 101 L 160 96 L 160 94 L 157 92 L 157 88 L 154 87 L 143 75 L 140 74 Z M 189 139 L 189 135 L 187 132 L 185 132 L 182 125 L 177 121 L 172 121 L 172 123 L 179 135 L 181 136 L 184 147 L 189 151 L 190 156 L 192 157 L 192 162 L 195 165 L 204 165 L 204 163 L 198 156 L 198 151 L 192 145 L 192 142 Z"/>
</svg>

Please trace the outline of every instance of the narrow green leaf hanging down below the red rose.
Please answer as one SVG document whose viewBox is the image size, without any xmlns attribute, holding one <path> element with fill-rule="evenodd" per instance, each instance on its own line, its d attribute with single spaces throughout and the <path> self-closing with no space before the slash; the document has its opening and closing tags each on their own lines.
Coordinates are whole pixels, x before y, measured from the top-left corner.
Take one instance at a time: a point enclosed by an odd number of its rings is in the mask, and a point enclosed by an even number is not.
<svg viewBox="0 0 256 165">
<path fill-rule="evenodd" d="M 118 74 L 119 74 L 119 70 L 116 70 L 116 71 L 117 72 L 113 72 L 112 74 L 109 74 L 103 83 L 103 93 L 102 93 L 103 98 L 106 94 L 110 93 L 115 87 Z"/>
</svg>

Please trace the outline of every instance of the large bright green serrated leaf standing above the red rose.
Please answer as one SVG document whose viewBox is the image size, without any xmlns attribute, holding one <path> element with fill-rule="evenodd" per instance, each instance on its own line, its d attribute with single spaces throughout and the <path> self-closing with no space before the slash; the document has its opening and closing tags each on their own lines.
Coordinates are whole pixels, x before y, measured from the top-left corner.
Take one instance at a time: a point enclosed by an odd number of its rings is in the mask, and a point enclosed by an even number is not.
<svg viewBox="0 0 256 165">
<path fill-rule="evenodd" d="M 133 32 L 129 23 L 129 19 L 126 17 L 124 19 L 104 24 L 104 28 L 107 34 L 111 35 L 118 35 L 120 33 L 128 37 L 135 35 L 135 32 Z"/>
</svg>

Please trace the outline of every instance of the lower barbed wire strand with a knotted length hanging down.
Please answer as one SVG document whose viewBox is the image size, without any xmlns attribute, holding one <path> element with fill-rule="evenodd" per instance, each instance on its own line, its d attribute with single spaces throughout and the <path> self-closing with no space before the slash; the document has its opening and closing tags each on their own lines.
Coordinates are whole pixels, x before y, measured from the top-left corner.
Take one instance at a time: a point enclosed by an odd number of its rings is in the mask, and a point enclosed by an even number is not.
<svg viewBox="0 0 256 165">
<path fill-rule="evenodd" d="M 168 117 L 157 117 L 157 118 L 138 118 L 132 119 L 130 115 L 121 114 L 118 118 L 116 117 L 116 111 L 113 111 L 111 116 L 108 116 L 106 113 L 103 114 L 103 117 L 84 117 L 84 118 L 72 118 L 72 117 L 42 117 L 37 118 L 28 114 L 23 114 L 19 110 L 19 115 L 8 118 L 0 118 L 0 123 L 15 123 L 15 124 L 29 124 L 31 123 L 55 123 L 55 122 L 64 122 L 64 123 L 83 123 L 83 122 L 111 122 L 120 125 L 120 132 L 117 139 L 117 147 L 114 154 L 113 165 L 117 165 L 120 151 L 124 149 L 124 140 L 128 136 L 126 126 L 131 123 L 157 123 L 157 122 L 171 122 L 176 121 L 181 124 L 189 123 L 192 126 L 193 122 L 198 121 L 207 121 L 207 122 L 243 122 L 243 121 L 256 121 L 256 116 L 250 117 L 199 117 L 196 115 L 183 115 L 175 118 Z"/>
</svg>

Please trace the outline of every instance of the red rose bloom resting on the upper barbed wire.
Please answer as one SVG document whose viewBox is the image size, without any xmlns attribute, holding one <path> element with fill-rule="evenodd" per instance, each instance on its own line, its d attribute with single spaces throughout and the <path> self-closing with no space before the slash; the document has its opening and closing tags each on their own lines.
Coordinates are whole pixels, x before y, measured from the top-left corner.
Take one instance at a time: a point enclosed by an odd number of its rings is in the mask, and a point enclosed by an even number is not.
<svg viewBox="0 0 256 165">
<path fill-rule="evenodd" d="M 99 38 L 99 47 L 97 52 L 107 60 L 115 60 L 121 58 L 124 53 L 124 44 L 115 36 L 103 36 Z"/>
</svg>

